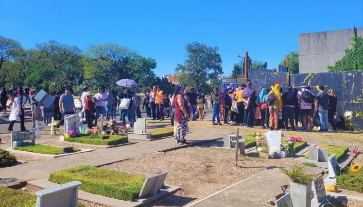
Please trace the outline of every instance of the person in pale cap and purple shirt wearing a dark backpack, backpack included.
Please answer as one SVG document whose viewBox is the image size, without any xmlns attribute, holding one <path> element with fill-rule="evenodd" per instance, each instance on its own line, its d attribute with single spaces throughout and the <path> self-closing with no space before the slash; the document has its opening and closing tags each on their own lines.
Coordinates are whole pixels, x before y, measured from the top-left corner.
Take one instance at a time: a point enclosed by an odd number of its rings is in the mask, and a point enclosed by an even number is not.
<svg viewBox="0 0 363 207">
<path fill-rule="evenodd" d="M 307 87 L 308 86 L 304 82 L 301 82 L 301 91 L 297 93 L 297 100 L 300 103 L 302 130 L 312 130 L 311 105 L 314 102 L 315 96 Z"/>
</svg>

